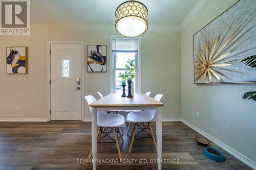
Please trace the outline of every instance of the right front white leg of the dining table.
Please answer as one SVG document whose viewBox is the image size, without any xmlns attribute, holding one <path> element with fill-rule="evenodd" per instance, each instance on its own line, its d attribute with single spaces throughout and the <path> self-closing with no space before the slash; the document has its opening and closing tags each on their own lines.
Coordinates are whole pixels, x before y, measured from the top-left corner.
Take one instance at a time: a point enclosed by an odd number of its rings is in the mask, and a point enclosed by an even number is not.
<svg viewBox="0 0 256 170">
<path fill-rule="evenodd" d="M 158 170 L 161 170 L 161 159 L 162 159 L 162 106 L 157 107 L 157 159 L 158 163 Z"/>
</svg>

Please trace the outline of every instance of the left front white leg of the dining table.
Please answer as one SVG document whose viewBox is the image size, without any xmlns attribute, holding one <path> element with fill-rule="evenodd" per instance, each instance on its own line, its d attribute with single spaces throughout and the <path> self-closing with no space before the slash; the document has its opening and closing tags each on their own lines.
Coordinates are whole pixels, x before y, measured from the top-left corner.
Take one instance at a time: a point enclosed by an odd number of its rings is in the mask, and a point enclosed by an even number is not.
<svg viewBox="0 0 256 170">
<path fill-rule="evenodd" d="M 97 166 L 97 108 L 92 107 L 92 150 L 93 150 L 93 170 Z"/>
</svg>

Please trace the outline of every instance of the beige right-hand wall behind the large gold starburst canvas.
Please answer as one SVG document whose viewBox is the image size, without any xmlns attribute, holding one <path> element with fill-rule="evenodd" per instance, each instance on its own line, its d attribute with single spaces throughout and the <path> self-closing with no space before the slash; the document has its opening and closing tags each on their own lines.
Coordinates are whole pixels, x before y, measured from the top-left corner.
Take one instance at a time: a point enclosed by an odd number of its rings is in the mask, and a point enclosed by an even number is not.
<svg viewBox="0 0 256 170">
<path fill-rule="evenodd" d="M 181 116 L 256 161 L 256 103 L 241 99 L 256 85 L 195 85 L 193 77 L 193 35 L 236 2 L 199 1 L 181 23 Z"/>
</svg>

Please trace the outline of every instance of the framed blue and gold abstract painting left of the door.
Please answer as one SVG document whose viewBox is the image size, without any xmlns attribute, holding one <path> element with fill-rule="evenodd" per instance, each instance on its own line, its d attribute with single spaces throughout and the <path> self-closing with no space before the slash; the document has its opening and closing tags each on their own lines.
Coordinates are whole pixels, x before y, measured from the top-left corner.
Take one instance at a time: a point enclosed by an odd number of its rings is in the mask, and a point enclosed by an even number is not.
<svg viewBox="0 0 256 170">
<path fill-rule="evenodd" d="M 28 47 L 6 47 L 6 72 L 7 74 L 28 73 Z"/>
</svg>

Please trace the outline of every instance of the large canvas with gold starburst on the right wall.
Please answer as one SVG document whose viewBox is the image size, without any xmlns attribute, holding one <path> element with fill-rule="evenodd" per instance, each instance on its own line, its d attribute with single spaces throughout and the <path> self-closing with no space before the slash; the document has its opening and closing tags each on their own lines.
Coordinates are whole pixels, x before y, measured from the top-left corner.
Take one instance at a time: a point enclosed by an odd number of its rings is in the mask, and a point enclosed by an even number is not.
<svg viewBox="0 0 256 170">
<path fill-rule="evenodd" d="M 194 83 L 252 83 L 256 69 L 256 1 L 240 0 L 193 36 Z"/>
</svg>

